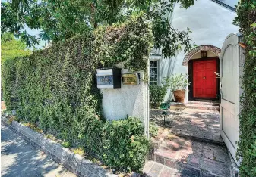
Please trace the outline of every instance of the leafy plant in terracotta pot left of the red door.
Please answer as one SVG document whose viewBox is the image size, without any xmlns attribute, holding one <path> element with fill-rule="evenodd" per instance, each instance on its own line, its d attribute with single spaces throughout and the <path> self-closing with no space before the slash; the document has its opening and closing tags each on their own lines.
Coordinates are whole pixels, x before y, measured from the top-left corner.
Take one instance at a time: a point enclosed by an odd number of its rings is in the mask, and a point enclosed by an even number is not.
<svg viewBox="0 0 256 177">
<path fill-rule="evenodd" d="M 189 85 L 188 74 L 175 74 L 169 78 L 169 87 L 176 102 L 184 103 L 185 89 Z"/>
</svg>

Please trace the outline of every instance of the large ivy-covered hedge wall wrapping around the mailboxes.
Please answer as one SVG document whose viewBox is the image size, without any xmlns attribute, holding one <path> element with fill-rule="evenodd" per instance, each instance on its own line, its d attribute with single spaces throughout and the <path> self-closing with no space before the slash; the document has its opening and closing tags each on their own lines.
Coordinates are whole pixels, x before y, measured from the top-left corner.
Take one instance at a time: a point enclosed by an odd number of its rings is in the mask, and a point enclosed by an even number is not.
<svg viewBox="0 0 256 177">
<path fill-rule="evenodd" d="M 148 151 L 144 126 L 136 118 L 104 120 L 95 76 L 97 67 L 120 62 L 146 70 L 151 47 L 150 23 L 139 15 L 8 60 L 2 71 L 6 107 L 21 120 L 58 130 L 106 166 L 139 171 Z"/>
</svg>

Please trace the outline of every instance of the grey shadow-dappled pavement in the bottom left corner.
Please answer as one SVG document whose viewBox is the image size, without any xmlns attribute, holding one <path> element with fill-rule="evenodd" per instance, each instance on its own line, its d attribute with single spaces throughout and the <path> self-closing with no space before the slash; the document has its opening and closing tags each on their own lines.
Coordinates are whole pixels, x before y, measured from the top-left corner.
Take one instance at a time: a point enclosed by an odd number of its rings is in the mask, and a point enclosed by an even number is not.
<svg viewBox="0 0 256 177">
<path fill-rule="evenodd" d="M 1 172 L 2 177 L 76 176 L 4 125 L 1 125 Z"/>
</svg>

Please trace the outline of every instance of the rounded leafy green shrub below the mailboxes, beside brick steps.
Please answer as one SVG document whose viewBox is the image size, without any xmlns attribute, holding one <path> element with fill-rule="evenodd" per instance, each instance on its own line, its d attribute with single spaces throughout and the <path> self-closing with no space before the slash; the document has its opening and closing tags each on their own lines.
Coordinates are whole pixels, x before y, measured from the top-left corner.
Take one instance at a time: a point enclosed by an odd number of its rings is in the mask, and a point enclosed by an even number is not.
<svg viewBox="0 0 256 177">
<path fill-rule="evenodd" d="M 140 171 L 149 151 L 144 126 L 137 118 L 107 121 L 103 126 L 103 161 L 112 168 Z"/>
</svg>

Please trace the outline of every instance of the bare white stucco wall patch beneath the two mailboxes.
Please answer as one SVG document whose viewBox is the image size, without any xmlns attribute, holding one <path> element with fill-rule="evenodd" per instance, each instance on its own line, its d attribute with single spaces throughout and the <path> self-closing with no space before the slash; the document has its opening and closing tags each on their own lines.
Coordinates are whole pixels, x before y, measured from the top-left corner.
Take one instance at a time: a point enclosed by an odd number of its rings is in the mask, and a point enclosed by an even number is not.
<svg viewBox="0 0 256 177">
<path fill-rule="evenodd" d="M 121 73 L 129 73 L 122 69 Z M 143 72 L 141 80 L 144 79 Z M 148 134 L 149 98 L 148 85 L 142 81 L 138 85 L 121 84 L 120 89 L 100 89 L 103 94 L 103 114 L 107 120 L 124 119 L 126 116 L 135 116 L 141 119 Z"/>
</svg>

